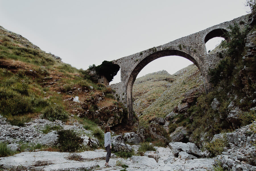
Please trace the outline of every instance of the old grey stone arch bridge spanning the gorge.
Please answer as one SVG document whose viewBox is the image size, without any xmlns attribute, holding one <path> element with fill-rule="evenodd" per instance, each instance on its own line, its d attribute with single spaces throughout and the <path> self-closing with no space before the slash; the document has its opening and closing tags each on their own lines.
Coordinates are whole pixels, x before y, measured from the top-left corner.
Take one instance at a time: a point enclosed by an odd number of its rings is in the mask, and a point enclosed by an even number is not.
<svg viewBox="0 0 256 171">
<path fill-rule="evenodd" d="M 238 23 L 240 27 L 243 28 L 245 27 L 245 23 L 247 23 L 247 18 L 247 15 L 241 16 L 172 42 L 113 60 L 113 63 L 119 65 L 121 69 L 121 82 L 112 84 L 110 87 L 115 90 L 115 95 L 117 95 L 119 100 L 128 108 L 129 120 L 133 118 L 133 83 L 144 66 L 157 58 L 175 55 L 192 61 L 202 74 L 206 93 L 209 92 L 211 85 L 209 83 L 210 77 L 208 71 L 214 68 L 221 58 L 218 53 L 207 54 L 205 43 L 214 37 L 223 37 L 229 41 L 230 38 L 225 34 L 229 31 L 228 26 Z"/>
</svg>

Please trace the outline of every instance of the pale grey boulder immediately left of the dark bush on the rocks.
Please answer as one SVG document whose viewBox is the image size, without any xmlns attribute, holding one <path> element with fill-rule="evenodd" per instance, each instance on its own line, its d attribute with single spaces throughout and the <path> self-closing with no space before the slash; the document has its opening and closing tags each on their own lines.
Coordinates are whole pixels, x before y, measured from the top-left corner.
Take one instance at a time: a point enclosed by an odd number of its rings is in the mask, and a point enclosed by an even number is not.
<svg viewBox="0 0 256 171">
<path fill-rule="evenodd" d="M 37 143 L 41 145 L 54 146 L 57 144 L 58 136 L 57 131 L 52 131 L 38 139 Z"/>
</svg>

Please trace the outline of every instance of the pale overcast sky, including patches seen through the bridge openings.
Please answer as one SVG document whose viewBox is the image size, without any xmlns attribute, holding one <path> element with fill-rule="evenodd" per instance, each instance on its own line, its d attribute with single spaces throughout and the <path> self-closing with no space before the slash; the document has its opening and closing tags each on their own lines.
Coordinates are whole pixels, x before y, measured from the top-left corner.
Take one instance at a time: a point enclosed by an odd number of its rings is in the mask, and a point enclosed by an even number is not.
<svg viewBox="0 0 256 171">
<path fill-rule="evenodd" d="M 87 69 L 246 15 L 245 0 L 0 0 L 0 25 L 76 68 Z M 213 49 L 220 39 L 210 40 Z M 139 73 L 192 64 L 168 56 Z M 113 82 L 119 82 L 118 74 Z"/>
</svg>

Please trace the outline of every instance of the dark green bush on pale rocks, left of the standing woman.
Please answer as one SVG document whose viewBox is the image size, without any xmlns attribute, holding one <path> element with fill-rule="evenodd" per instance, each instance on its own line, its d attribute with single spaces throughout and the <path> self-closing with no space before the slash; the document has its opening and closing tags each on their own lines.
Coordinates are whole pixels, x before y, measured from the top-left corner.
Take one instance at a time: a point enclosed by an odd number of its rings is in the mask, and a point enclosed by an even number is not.
<svg viewBox="0 0 256 171">
<path fill-rule="evenodd" d="M 83 140 L 71 130 L 60 130 L 58 131 L 58 135 L 59 148 L 63 152 L 75 152 L 79 150 L 80 144 L 83 142 Z"/>
</svg>

